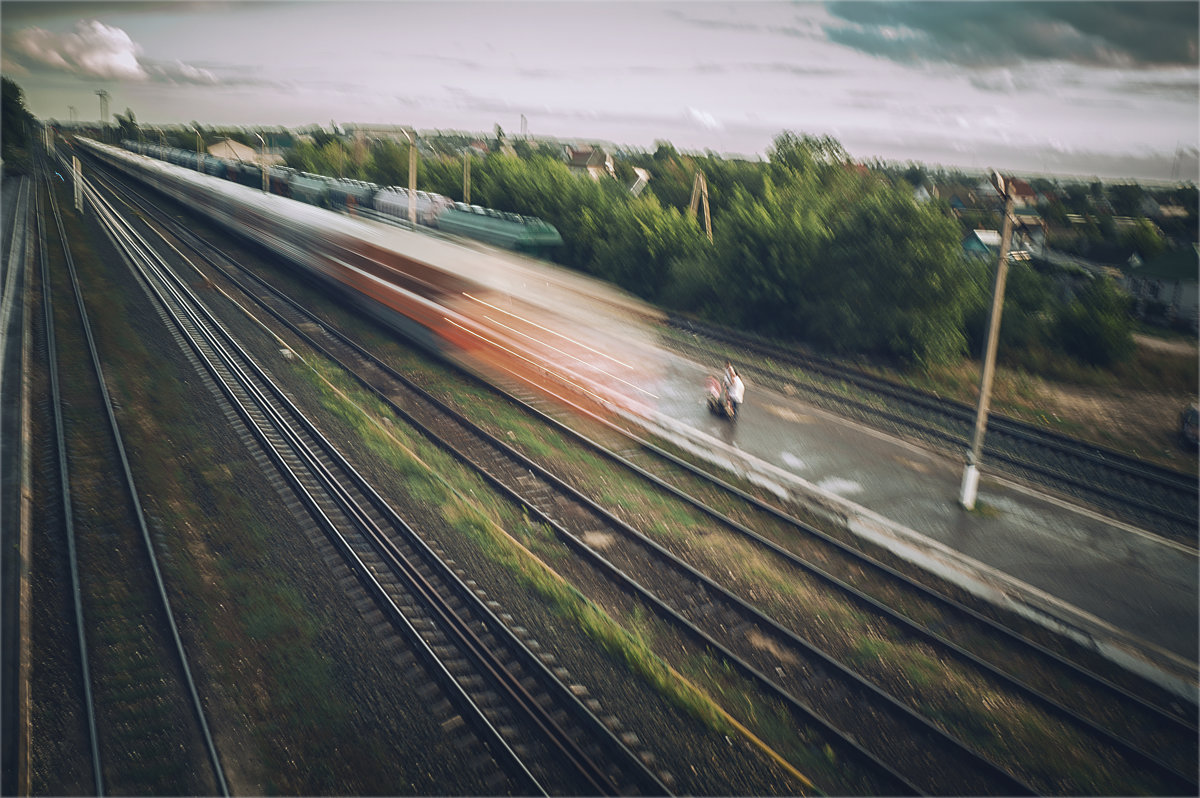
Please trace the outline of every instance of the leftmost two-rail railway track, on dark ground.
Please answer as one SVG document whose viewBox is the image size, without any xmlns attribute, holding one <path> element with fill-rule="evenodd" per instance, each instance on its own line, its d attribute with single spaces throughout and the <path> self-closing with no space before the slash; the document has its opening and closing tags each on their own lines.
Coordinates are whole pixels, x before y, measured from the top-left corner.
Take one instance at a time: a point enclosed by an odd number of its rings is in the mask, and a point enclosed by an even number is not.
<svg viewBox="0 0 1200 798">
<path fill-rule="evenodd" d="M 86 751 L 78 761 L 88 763 L 90 778 L 80 773 L 80 786 L 95 794 L 229 794 L 104 383 L 53 186 L 46 196 L 56 222 L 55 265 L 65 269 L 52 274 L 52 244 L 38 211 L 42 344 L 49 374 L 44 414 L 53 427 L 44 464 L 50 485 L 42 496 L 56 505 L 47 506 L 46 515 L 64 535 L 73 623 L 68 659 L 78 668 L 62 732 Z M 41 191 L 37 197 L 41 203 Z M 80 352 L 88 356 L 78 359 Z M 32 632 L 40 638 L 38 630 Z"/>
</svg>

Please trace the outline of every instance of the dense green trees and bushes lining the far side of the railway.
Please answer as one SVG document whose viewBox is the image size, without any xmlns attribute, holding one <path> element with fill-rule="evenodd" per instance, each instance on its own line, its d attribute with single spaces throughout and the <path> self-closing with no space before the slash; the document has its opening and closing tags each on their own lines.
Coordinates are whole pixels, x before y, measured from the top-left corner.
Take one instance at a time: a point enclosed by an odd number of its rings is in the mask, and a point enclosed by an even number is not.
<svg viewBox="0 0 1200 798">
<path fill-rule="evenodd" d="M 289 151 L 289 166 L 408 184 L 408 144 L 335 137 Z M 463 162 L 418 161 L 418 186 L 463 198 Z M 637 197 L 634 167 L 652 174 Z M 708 185 L 713 241 L 689 204 Z M 617 164 L 617 180 L 572 174 L 558 151 L 517 142 L 515 155 L 470 163 L 470 202 L 539 216 L 564 240 L 557 260 L 671 310 L 908 367 L 983 350 L 994 263 L 962 254 L 944 204 L 918 204 L 905 180 L 851 162 L 828 137 L 778 136 L 766 162 L 680 155 L 670 144 Z M 1044 371 L 1069 356 L 1108 366 L 1133 352 L 1128 302 L 1109 280 L 1015 263 L 1001 358 Z"/>
</svg>

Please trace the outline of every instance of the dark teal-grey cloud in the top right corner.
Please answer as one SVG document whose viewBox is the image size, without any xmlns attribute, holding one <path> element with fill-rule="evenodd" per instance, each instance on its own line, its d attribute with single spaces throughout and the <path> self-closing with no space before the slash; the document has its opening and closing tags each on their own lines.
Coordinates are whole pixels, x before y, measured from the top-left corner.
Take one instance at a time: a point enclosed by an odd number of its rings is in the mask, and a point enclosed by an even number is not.
<svg viewBox="0 0 1200 798">
<path fill-rule="evenodd" d="M 835 2 L 829 37 L 904 64 L 1196 66 L 1195 2 Z"/>
</svg>

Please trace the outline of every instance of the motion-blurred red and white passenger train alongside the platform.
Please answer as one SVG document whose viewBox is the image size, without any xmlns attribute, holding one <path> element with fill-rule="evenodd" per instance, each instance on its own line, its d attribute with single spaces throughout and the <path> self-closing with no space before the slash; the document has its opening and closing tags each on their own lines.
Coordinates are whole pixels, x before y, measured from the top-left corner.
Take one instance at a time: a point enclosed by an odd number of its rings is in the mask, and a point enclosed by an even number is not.
<svg viewBox="0 0 1200 798">
<path fill-rule="evenodd" d="M 644 415 L 659 313 L 533 258 L 293 202 L 194 169 L 76 138 L 145 182 L 332 286 L 426 349 L 570 404 Z M 259 178 L 260 180 L 262 178 Z"/>
</svg>

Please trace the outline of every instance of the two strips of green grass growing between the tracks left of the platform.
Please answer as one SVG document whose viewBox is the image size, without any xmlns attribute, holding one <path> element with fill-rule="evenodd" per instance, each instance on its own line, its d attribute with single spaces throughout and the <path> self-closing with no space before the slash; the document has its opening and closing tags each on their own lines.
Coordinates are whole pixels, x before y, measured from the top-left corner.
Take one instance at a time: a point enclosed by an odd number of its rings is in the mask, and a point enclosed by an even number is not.
<svg viewBox="0 0 1200 798">
<path fill-rule="evenodd" d="M 404 434 L 398 425 L 368 420 L 365 414 L 386 418 L 386 408 L 371 397 L 359 395 L 354 385 L 342 385 L 337 391 L 323 388 L 325 377 L 323 374 L 317 379 L 310 376 L 310 379 L 319 390 L 329 391 L 325 398 L 329 409 L 335 410 L 338 404 L 343 404 L 337 410 L 341 418 L 353 424 L 356 434 L 373 451 L 406 474 L 408 490 L 419 492 L 430 506 L 438 508 L 456 532 L 474 541 L 480 551 L 541 595 L 559 617 L 569 619 L 604 650 L 626 662 L 634 672 L 640 673 L 678 706 L 704 719 L 710 727 L 727 727 L 720 704 L 733 708 L 760 727 L 768 726 L 762 708 L 746 703 L 744 694 L 730 686 L 736 680 L 731 680 L 727 673 L 721 676 L 724 668 L 688 665 L 684 672 L 689 678 L 680 680 L 676 671 L 655 653 L 655 623 L 644 617 L 611 617 L 574 586 L 564 582 L 545 559 L 534 553 L 562 550 L 547 529 L 502 509 L 503 503 L 487 498 L 488 492 L 478 479 L 464 474 L 442 452 L 428 451 L 421 440 Z M 328 374 L 328 378 L 334 383 L 340 379 L 337 374 Z M 361 418 L 354 420 L 355 415 Z M 505 426 L 512 430 L 517 443 L 527 445 L 522 434 L 522 428 L 527 426 L 524 422 Z M 533 436 L 534 443 L 529 445 L 539 451 L 558 451 L 563 444 L 554 440 L 556 437 L 539 432 Z M 403 443 L 397 445 L 401 442 Z M 678 510 L 673 502 L 659 493 L 641 487 L 626 488 L 612 478 L 606 467 L 596 466 L 589 470 L 587 467 L 598 462 L 590 454 L 574 455 L 572 462 L 584 469 L 588 474 L 586 481 L 593 482 L 605 500 L 636 511 L 640 517 L 646 518 L 646 523 L 640 526 L 652 529 L 654 534 L 682 538 L 685 530 L 695 528 L 695 521 L 688 512 Z M 986 508 L 983 511 L 986 512 Z M 688 541 L 701 559 L 709 562 L 709 568 L 724 563 L 720 572 L 728 564 L 737 563 L 734 578 L 754 583 L 756 590 L 764 590 L 766 595 L 761 599 L 764 606 L 790 611 L 803 607 L 805 613 L 822 620 L 823 629 L 844 635 L 850 646 L 846 656 L 869 678 L 888 683 L 899 677 L 908 683 L 912 700 L 918 704 L 952 707 L 930 712 L 940 712 L 948 720 L 962 724 L 964 728 L 974 730 L 980 743 L 1000 749 L 1002 756 L 1018 757 L 1028 762 L 1033 770 L 1045 769 L 1048 773 L 1057 767 L 1055 762 L 1058 760 L 1067 761 L 1072 768 L 1086 767 L 1092 756 L 1081 740 L 1072 739 L 1069 733 L 1064 734 L 1057 722 L 1043 718 L 1039 712 L 1021 702 L 1009 701 L 1002 692 L 994 694 L 985 684 L 977 683 L 976 677 L 961 676 L 954 668 L 948 668 L 922 646 L 910 646 L 858 631 L 871 624 L 865 616 L 844 601 L 828 596 L 823 590 L 806 587 L 778 572 L 769 560 L 763 560 L 761 554 L 756 554 L 745 544 L 727 540 L 724 535 L 690 535 Z M 704 568 L 701 564 L 701 569 Z M 700 686 L 694 686 L 694 683 Z M 1019 738 L 1008 737 L 1013 730 L 1021 730 Z M 786 733 L 782 738 L 775 737 L 778 733 L 779 730 L 770 733 L 770 737 L 780 745 L 787 745 Z M 1104 790 L 1126 786 L 1120 780 L 1110 781 L 1110 778 L 1105 774 L 1078 784 L 1088 785 L 1090 788 L 1100 785 Z"/>
</svg>

